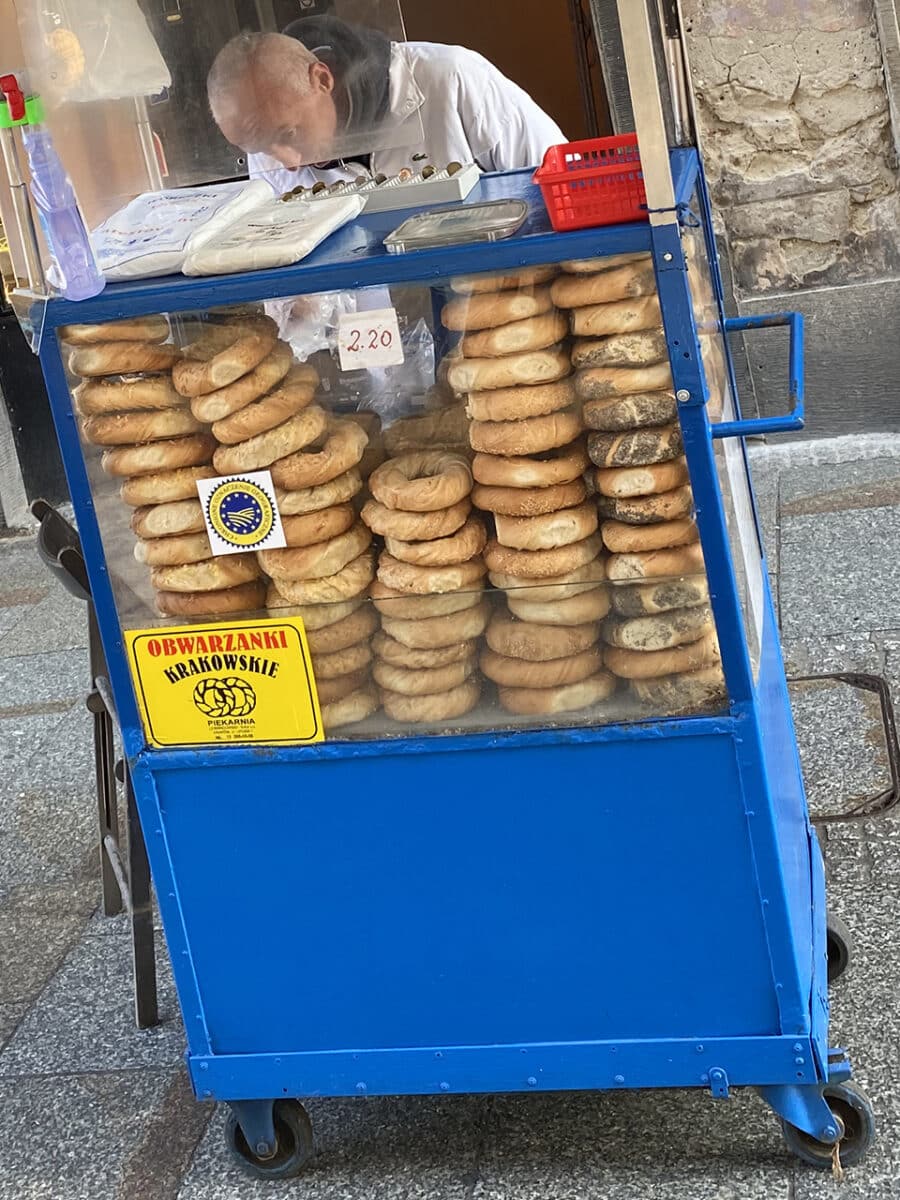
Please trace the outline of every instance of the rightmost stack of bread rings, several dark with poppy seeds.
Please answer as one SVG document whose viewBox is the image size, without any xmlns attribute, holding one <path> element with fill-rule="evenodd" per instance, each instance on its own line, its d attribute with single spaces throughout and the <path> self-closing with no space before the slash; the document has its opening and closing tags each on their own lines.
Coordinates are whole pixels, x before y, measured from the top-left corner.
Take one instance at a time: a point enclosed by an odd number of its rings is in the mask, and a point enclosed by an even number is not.
<svg viewBox="0 0 900 1200">
<path fill-rule="evenodd" d="M 553 296 L 572 310 L 575 386 L 611 552 L 606 666 L 659 712 L 702 704 L 721 690 L 719 646 L 653 263 L 632 254 L 565 271 Z"/>
</svg>

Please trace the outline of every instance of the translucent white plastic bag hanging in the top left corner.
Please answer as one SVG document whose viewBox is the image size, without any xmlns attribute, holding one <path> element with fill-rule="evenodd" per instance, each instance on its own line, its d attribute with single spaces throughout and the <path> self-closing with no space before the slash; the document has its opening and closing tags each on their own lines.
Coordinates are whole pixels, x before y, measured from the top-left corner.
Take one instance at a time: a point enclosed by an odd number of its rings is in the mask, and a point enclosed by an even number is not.
<svg viewBox="0 0 900 1200">
<path fill-rule="evenodd" d="M 172 85 L 137 0 L 18 0 L 17 10 L 30 90 L 50 106 Z"/>
</svg>

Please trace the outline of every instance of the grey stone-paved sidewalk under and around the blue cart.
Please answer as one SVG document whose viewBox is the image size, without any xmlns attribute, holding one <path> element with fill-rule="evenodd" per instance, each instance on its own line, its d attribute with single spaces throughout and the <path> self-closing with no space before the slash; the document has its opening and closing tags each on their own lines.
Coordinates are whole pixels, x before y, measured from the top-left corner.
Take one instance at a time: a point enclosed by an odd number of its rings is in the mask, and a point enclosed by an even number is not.
<svg viewBox="0 0 900 1200">
<path fill-rule="evenodd" d="M 842 452 L 754 460 L 788 670 L 883 673 L 900 704 L 900 457 Z M 164 948 L 164 1020 L 140 1033 L 124 926 L 96 913 L 84 616 L 30 539 L 0 541 L 0 1200 L 900 1196 L 900 809 L 822 830 L 830 904 L 857 940 L 832 1043 L 878 1114 L 877 1145 L 840 1188 L 794 1163 L 746 1092 L 313 1102 L 311 1170 L 245 1177 L 223 1112 L 191 1096 Z M 836 683 L 792 698 L 816 814 L 887 786 L 875 701 Z"/>
</svg>

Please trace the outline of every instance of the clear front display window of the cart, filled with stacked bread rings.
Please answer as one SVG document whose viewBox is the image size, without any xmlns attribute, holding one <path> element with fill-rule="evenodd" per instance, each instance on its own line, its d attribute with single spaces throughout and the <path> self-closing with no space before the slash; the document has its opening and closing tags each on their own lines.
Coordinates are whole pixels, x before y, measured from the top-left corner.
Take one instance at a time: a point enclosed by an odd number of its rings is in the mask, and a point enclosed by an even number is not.
<svg viewBox="0 0 900 1200">
<path fill-rule="evenodd" d="M 326 739 L 722 710 L 653 264 L 600 265 L 367 289 L 302 364 L 263 305 L 60 331 L 163 718 L 265 740 L 298 619 Z M 262 658 L 206 637 L 235 622 Z"/>
</svg>

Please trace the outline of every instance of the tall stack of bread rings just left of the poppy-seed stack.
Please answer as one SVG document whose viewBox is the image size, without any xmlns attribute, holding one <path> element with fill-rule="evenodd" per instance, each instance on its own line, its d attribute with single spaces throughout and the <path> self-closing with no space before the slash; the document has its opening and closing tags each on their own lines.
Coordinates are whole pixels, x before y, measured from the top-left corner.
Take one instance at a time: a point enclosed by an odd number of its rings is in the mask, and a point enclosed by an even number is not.
<svg viewBox="0 0 900 1200">
<path fill-rule="evenodd" d="M 614 688 L 598 648 L 610 602 L 556 274 L 455 280 L 443 313 L 464 334 L 449 382 L 468 397 L 473 499 L 496 524 L 485 562 L 510 608 L 491 620 L 481 670 L 508 712 L 533 715 L 587 708 Z"/>
</svg>

